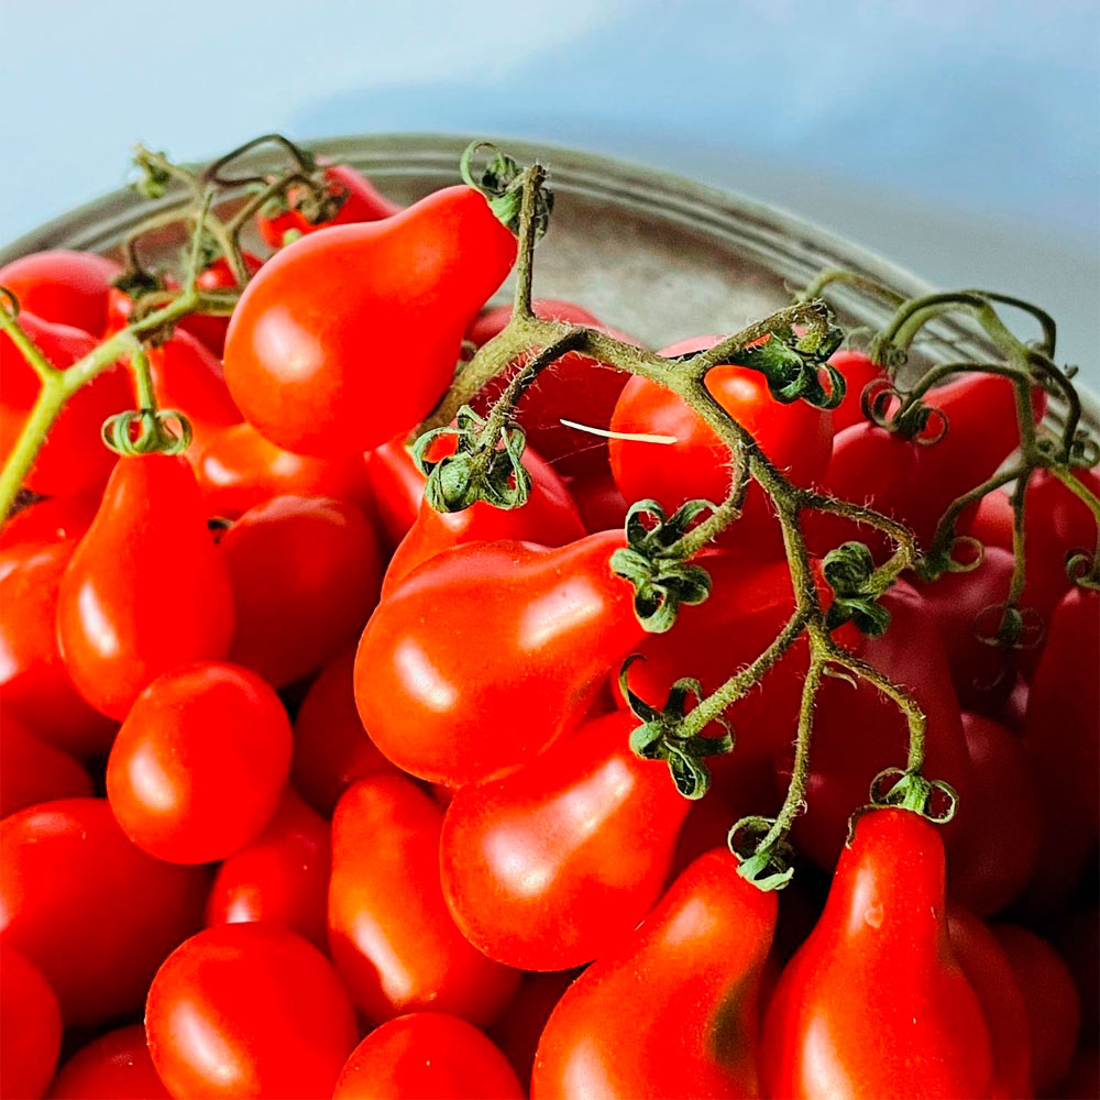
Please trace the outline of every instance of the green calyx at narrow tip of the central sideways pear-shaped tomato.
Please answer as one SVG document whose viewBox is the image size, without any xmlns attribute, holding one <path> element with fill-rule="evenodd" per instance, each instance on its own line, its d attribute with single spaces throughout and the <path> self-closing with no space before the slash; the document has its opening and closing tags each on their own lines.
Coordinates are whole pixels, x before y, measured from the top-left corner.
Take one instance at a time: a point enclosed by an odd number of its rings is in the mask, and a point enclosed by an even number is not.
<svg viewBox="0 0 1100 1100">
<path fill-rule="evenodd" d="M 710 501 L 689 501 L 666 518 L 656 501 L 638 501 L 626 514 L 626 541 L 612 554 L 612 571 L 634 585 L 634 610 L 650 634 L 664 634 L 681 604 L 701 604 L 711 594 L 711 574 L 685 562 L 676 543 Z M 646 524 L 649 518 L 649 525 Z"/>
</svg>

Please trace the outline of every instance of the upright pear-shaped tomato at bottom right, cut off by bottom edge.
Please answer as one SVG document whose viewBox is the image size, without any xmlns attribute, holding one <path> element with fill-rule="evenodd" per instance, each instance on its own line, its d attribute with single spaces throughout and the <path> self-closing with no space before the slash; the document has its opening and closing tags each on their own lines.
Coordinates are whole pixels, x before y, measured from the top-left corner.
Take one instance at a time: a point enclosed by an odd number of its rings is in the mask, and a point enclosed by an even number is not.
<svg viewBox="0 0 1100 1100">
<path fill-rule="evenodd" d="M 989 1096 L 989 1031 L 948 943 L 944 880 L 935 825 L 909 810 L 859 820 L 768 1008 L 767 1096 Z"/>
</svg>

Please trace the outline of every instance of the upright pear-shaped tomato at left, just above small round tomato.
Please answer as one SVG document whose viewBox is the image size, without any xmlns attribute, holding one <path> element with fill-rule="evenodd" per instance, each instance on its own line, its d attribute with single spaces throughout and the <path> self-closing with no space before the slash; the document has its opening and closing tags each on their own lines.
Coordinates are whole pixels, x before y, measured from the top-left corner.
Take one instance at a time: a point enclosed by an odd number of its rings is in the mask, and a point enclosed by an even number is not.
<svg viewBox="0 0 1100 1100">
<path fill-rule="evenodd" d="M 187 461 L 120 459 L 57 597 L 57 638 L 77 691 L 123 718 L 162 672 L 224 657 L 232 636 L 229 573 Z"/>
</svg>

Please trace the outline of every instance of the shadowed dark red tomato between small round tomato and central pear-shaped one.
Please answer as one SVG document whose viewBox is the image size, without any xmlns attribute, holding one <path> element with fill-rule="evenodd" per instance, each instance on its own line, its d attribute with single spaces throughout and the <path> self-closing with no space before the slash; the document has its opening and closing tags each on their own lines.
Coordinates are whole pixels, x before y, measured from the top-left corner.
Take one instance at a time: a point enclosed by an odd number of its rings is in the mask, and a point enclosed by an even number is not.
<svg viewBox="0 0 1100 1100">
<path fill-rule="evenodd" d="M 397 774 L 359 721 L 354 664 L 354 646 L 334 657 L 310 685 L 294 721 L 290 778 L 326 817 L 332 816 L 340 795 L 356 780 Z"/>
</svg>

